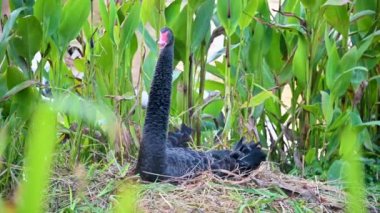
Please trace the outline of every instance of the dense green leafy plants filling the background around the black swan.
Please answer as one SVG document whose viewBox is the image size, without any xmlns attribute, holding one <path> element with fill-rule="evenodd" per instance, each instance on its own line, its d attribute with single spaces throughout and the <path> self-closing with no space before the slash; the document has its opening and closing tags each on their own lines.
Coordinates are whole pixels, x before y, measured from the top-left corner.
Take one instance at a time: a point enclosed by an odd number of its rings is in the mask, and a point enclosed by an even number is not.
<svg viewBox="0 0 380 213">
<path fill-rule="evenodd" d="M 163 26 L 176 39 L 171 128 L 190 125 L 194 146 L 261 141 L 285 173 L 344 180 L 352 212 L 363 211 L 365 186 L 378 190 L 379 0 L 288 0 L 276 10 L 265 0 L 9 2 L 0 36 L 0 191 L 17 191 L 20 211 L 46 207 L 44 188 L 62 168 L 84 165 L 87 177 L 112 166 L 126 175 Z M 76 59 L 67 55 L 73 40 Z M 84 199 L 75 196 L 61 207 L 75 210 Z"/>
</svg>

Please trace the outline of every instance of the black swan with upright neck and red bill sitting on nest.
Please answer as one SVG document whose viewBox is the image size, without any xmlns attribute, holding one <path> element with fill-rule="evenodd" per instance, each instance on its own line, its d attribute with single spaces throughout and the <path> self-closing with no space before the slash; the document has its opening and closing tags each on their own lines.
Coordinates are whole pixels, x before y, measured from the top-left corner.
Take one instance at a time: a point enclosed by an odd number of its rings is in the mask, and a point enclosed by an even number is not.
<svg viewBox="0 0 380 213">
<path fill-rule="evenodd" d="M 182 126 L 168 133 L 174 54 L 169 28 L 161 30 L 159 46 L 136 167 L 140 177 L 146 181 L 191 178 L 208 169 L 223 176 L 222 170 L 243 172 L 258 167 L 265 154 L 255 143 L 244 144 L 241 139 L 233 150 L 202 152 L 188 147 L 190 128 Z"/>
</svg>

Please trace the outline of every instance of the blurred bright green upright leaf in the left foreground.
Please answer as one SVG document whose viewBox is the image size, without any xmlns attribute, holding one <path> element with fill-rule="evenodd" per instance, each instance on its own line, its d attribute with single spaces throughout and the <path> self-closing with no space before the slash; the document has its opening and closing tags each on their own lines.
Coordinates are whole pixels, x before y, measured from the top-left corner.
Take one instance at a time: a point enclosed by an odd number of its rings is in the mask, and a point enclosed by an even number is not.
<svg viewBox="0 0 380 213">
<path fill-rule="evenodd" d="M 19 212 L 43 212 L 57 140 L 56 123 L 56 113 L 50 106 L 41 104 L 37 107 L 26 143 L 25 177 L 21 184 Z"/>
</svg>

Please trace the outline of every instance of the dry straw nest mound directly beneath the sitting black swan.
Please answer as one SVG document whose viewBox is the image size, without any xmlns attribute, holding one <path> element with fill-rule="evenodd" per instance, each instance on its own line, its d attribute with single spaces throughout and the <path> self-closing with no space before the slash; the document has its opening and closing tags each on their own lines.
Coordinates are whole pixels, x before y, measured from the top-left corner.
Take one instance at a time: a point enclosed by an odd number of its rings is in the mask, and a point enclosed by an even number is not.
<svg viewBox="0 0 380 213">
<path fill-rule="evenodd" d="M 220 179 L 205 172 L 177 186 L 156 183 L 142 192 L 139 208 L 144 212 L 344 211 L 345 195 L 336 187 L 272 168 L 266 162 L 248 176 L 230 174 L 232 178 Z"/>
</svg>

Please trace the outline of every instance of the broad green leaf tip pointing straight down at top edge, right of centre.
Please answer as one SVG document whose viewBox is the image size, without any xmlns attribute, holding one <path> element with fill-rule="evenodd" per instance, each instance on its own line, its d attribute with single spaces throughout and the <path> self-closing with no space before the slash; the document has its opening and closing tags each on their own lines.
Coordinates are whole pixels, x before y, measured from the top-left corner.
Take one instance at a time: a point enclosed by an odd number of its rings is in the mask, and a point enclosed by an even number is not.
<svg viewBox="0 0 380 213">
<path fill-rule="evenodd" d="M 218 0 L 217 13 L 227 35 L 231 36 L 242 13 L 242 0 Z"/>
</svg>

